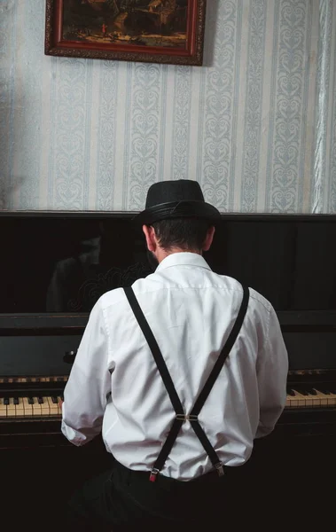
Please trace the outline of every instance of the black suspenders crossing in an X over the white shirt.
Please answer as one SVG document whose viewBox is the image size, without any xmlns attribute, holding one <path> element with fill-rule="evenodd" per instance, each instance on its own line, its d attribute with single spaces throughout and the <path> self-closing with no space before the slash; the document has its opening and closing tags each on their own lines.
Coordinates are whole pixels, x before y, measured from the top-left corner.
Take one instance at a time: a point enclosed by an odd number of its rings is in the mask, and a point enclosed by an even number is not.
<svg viewBox="0 0 336 532">
<path fill-rule="evenodd" d="M 200 391 L 199 396 L 191 409 L 191 412 L 189 414 L 185 414 L 182 403 L 176 393 L 175 386 L 168 372 L 168 367 L 164 361 L 163 356 L 161 355 L 160 348 L 157 344 L 157 341 L 154 338 L 154 335 L 152 333 L 150 326 L 148 325 L 145 315 L 142 309 L 140 308 L 139 303 L 137 302 L 135 293 L 133 292 L 133 289 L 130 286 L 127 288 L 124 288 L 126 297 L 129 300 L 129 305 L 131 309 L 133 310 L 135 317 L 137 318 L 137 323 L 139 324 L 142 332 L 144 333 L 145 339 L 147 340 L 149 347 L 151 348 L 152 356 L 154 357 L 155 363 L 158 366 L 160 376 L 163 380 L 163 384 L 165 385 L 167 389 L 170 401 L 176 412 L 176 417 L 173 421 L 173 425 L 170 428 L 170 432 L 168 434 L 167 440 L 163 444 L 160 450 L 159 457 L 156 459 L 156 462 L 152 467 L 152 472 L 150 475 L 150 481 L 152 482 L 156 480 L 156 475 L 160 473 L 160 470 L 162 469 L 163 465 L 165 464 L 168 458 L 168 454 L 170 450 L 172 450 L 173 448 L 173 445 L 177 438 L 177 434 L 179 433 L 182 424 L 184 423 L 184 421 L 187 421 L 187 420 L 191 422 L 191 426 L 193 430 L 195 431 L 195 434 L 198 436 L 199 442 L 201 442 L 204 450 L 206 450 L 207 456 L 210 458 L 212 465 L 214 465 L 214 467 L 217 469 L 218 474 L 222 476 L 224 473 L 223 464 L 221 460 L 218 458 L 217 453 L 215 452 L 215 449 L 213 448 L 213 446 L 207 439 L 207 434 L 204 432 L 203 428 L 200 426 L 198 416 L 199 416 L 199 411 L 203 407 L 203 404 L 207 401 L 207 396 L 210 394 L 211 389 L 215 384 L 215 379 L 217 379 L 219 373 L 221 372 L 223 368 L 223 364 L 225 363 L 226 358 L 230 354 L 231 348 L 234 342 L 236 341 L 241 325 L 243 324 L 244 317 L 246 315 L 248 300 L 249 300 L 248 288 L 243 287 L 243 290 L 244 290 L 243 300 L 241 302 L 240 309 L 238 312 L 238 317 L 236 319 L 235 324 L 232 327 L 229 338 L 226 341 L 220 355 L 218 356 L 217 361 L 215 362 L 215 366 L 207 379 L 207 382 L 205 383 L 204 387 Z"/>
</svg>

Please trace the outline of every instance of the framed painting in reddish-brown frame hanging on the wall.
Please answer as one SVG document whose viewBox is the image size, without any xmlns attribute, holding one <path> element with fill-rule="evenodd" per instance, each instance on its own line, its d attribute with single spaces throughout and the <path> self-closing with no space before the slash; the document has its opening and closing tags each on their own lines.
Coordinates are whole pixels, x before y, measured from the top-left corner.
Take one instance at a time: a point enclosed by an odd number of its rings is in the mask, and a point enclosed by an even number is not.
<svg viewBox="0 0 336 532">
<path fill-rule="evenodd" d="M 46 0 L 46 55 L 202 65 L 207 0 Z"/>
</svg>

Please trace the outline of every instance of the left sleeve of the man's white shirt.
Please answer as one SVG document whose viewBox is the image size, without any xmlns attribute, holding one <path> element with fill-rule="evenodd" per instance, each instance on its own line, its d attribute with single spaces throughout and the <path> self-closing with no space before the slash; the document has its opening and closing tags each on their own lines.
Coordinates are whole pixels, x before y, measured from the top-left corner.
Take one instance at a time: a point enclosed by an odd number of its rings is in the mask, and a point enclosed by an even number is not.
<svg viewBox="0 0 336 532">
<path fill-rule="evenodd" d="M 91 310 L 64 390 L 62 433 L 80 446 L 100 433 L 111 395 L 108 336 L 100 300 Z"/>
</svg>

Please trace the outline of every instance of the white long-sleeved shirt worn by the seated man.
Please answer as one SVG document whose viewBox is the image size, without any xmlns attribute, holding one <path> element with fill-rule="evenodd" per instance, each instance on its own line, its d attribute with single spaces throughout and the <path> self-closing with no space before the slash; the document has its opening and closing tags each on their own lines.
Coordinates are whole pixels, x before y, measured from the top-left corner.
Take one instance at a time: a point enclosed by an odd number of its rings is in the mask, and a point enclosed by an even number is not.
<svg viewBox="0 0 336 532">
<path fill-rule="evenodd" d="M 192 253 L 170 254 L 133 284 L 184 411 L 191 411 L 238 315 L 242 287 Z M 199 412 L 224 465 L 250 457 L 285 407 L 288 358 L 275 310 L 250 289 L 231 354 Z M 152 469 L 175 411 L 144 334 L 121 288 L 90 313 L 63 404 L 62 431 L 74 445 L 102 430 L 106 450 L 134 470 Z M 212 464 L 191 424 L 177 437 L 162 474 L 188 481 Z"/>
</svg>

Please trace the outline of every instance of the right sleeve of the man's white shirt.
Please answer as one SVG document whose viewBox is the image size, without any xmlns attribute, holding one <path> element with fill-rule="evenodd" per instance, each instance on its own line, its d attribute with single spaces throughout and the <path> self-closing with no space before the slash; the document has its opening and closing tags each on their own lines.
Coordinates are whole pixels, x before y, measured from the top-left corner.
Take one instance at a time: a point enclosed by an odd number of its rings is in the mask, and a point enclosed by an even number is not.
<svg viewBox="0 0 336 532">
<path fill-rule="evenodd" d="M 270 309 L 268 334 L 257 365 L 260 419 L 256 438 L 270 434 L 285 408 L 288 355 L 273 308 Z"/>
</svg>

